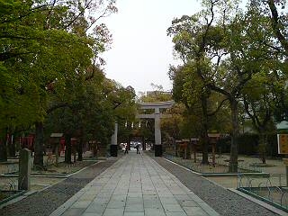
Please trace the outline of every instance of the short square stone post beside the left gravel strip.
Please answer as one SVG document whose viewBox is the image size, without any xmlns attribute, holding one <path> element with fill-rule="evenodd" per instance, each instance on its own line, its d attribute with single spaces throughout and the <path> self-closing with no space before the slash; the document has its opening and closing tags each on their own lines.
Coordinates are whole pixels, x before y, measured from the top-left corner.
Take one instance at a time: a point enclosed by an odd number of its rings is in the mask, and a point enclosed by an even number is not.
<svg viewBox="0 0 288 216">
<path fill-rule="evenodd" d="M 18 190 L 30 189 L 30 177 L 31 177 L 31 151 L 27 148 L 23 148 L 20 151 L 19 158 L 19 176 L 18 176 Z"/>
</svg>

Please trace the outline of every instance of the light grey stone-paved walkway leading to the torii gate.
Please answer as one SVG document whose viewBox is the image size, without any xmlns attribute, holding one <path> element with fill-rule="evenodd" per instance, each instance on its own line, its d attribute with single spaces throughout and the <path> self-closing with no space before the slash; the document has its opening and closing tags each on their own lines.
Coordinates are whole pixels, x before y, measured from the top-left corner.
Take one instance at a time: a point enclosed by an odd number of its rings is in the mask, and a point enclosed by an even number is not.
<svg viewBox="0 0 288 216">
<path fill-rule="evenodd" d="M 121 157 L 51 216 L 219 215 L 147 155 Z"/>
</svg>

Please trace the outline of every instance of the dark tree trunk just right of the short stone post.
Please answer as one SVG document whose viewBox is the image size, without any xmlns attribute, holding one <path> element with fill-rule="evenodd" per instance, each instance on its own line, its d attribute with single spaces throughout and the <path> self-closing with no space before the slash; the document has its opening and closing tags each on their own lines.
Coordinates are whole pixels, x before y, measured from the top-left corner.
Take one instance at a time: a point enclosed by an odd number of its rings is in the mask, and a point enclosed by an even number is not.
<svg viewBox="0 0 288 216">
<path fill-rule="evenodd" d="M 37 166 L 43 167 L 43 142 L 44 142 L 44 130 L 43 122 L 35 122 L 35 144 L 34 144 L 34 166 L 37 169 Z"/>
</svg>

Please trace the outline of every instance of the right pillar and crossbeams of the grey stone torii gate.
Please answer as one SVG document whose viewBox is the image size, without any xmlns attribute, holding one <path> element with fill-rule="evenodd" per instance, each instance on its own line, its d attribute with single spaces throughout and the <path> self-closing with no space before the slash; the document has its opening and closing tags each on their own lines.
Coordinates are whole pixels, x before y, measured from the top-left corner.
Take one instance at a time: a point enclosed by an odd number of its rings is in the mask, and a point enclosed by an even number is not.
<svg viewBox="0 0 288 216">
<path fill-rule="evenodd" d="M 156 157 L 162 156 L 162 142 L 161 142 L 161 124 L 160 119 L 170 117 L 168 114 L 161 114 L 160 109 L 171 108 L 175 102 L 156 102 L 156 103 L 139 103 L 141 110 L 154 109 L 153 114 L 138 114 L 136 117 L 139 119 L 154 119 L 155 120 L 155 144 L 154 151 Z"/>
</svg>

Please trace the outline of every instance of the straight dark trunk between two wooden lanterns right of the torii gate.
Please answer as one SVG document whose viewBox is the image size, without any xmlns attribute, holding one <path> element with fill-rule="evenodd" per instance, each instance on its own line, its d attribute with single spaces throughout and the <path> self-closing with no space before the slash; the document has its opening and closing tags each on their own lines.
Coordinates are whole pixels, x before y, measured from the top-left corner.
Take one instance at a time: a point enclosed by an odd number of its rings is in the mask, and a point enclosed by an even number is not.
<svg viewBox="0 0 288 216">
<path fill-rule="evenodd" d="M 202 164 L 209 164 L 208 160 L 208 146 L 209 146 L 209 137 L 208 137 L 208 111 L 207 111 L 207 98 L 205 95 L 202 95 Z"/>
</svg>

